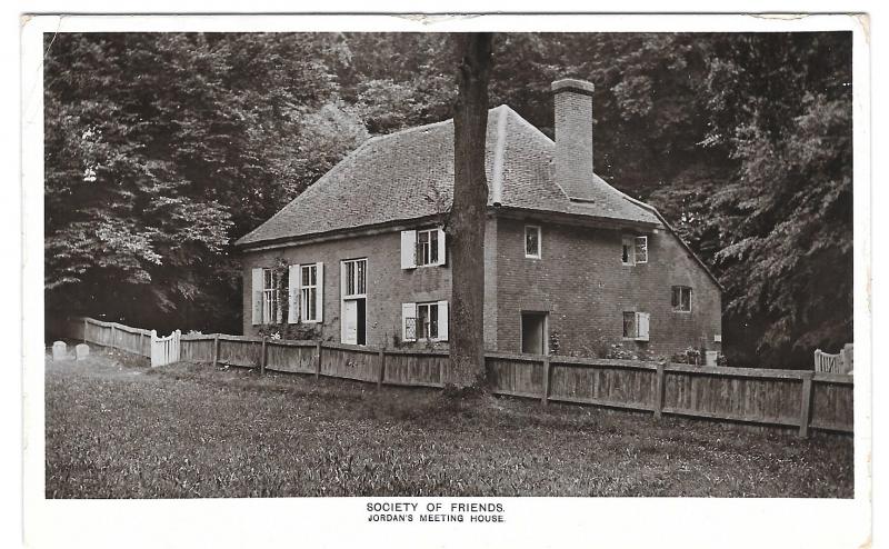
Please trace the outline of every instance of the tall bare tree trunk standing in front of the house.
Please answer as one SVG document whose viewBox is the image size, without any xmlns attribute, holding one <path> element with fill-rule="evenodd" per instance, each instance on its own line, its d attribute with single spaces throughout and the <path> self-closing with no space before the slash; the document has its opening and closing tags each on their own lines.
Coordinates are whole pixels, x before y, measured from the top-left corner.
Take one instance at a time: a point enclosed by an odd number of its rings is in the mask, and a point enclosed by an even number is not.
<svg viewBox="0 0 889 549">
<path fill-rule="evenodd" d="M 457 34 L 459 56 L 453 117 L 453 207 L 448 232 L 451 250 L 451 372 L 447 382 L 478 385 L 485 378 L 485 138 L 491 34 Z"/>
</svg>

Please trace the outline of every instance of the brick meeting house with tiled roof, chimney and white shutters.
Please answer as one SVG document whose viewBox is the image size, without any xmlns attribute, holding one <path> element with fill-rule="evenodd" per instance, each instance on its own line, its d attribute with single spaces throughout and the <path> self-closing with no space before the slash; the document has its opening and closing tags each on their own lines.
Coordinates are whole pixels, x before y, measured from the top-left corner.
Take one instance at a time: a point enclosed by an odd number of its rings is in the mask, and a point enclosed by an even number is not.
<svg viewBox="0 0 889 549">
<path fill-rule="evenodd" d="M 488 118 L 485 340 L 505 352 L 719 350 L 719 283 L 652 207 L 593 172 L 592 86 L 553 82 L 556 141 Z M 243 331 L 447 345 L 453 122 L 369 139 L 241 238 Z"/>
</svg>

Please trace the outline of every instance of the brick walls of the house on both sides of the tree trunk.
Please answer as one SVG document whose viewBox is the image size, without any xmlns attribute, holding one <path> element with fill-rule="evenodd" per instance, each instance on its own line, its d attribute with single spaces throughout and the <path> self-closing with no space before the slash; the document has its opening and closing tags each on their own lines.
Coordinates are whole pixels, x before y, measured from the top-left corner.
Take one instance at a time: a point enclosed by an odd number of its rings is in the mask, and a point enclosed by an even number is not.
<svg viewBox="0 0 889 549">
<path fill-rule="evenodd" d="M 525 258 L 525 222 L 489 219 L 486 229 L 485 341 L 491 350 L 521 350 L 521 311 L 549 313 L 560 353 L 589 356 L 601 345 L 669 356 L 703 343 L 718 350 L 720 293 L 712 280 L 666 230 L 649 234 L 649 262 L 620 261 L 621 232 L 533 222 L 542 227 L 542 259 Z M 251 269 L 324 263 L 322 339 L 340 341 L 340 261 L 368 258 L 367 343 L 392 346 L 401 336 L 401 303 L 450 301 L 450 263 L 401 269 L 400 231 L 248 252 L 243 257 L 243 333 L 251 323 Z M 692 312 L 672 311 L 671 287 L 692 288 Z M 622 313 L 651 315 L 650 341 L 622 340 Z M 417 343 L 422 345 L 422 343 Z"/>
</svg>

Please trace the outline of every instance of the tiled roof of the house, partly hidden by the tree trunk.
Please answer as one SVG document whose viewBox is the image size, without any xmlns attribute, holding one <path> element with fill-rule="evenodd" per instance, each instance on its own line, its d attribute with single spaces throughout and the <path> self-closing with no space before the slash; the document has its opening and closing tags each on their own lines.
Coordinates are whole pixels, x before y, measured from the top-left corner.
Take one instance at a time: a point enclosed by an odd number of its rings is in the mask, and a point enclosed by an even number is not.
<svg viewBox="0 0 889 549">
<path fill-rule="evenodd" d="M 486 142 L 488 187 L 493 194 L 501 186 L 503 207 L 660 224 L 651 210 L 598 176 L 593 201 L 569 200 L 553 179 L 555 143 L 507 106 L 489 111 Z M 433 216 L 450 206 L 452 191 L 453 121 L 447 120 L 369 139 L 237 243 Z"/>
</svg>

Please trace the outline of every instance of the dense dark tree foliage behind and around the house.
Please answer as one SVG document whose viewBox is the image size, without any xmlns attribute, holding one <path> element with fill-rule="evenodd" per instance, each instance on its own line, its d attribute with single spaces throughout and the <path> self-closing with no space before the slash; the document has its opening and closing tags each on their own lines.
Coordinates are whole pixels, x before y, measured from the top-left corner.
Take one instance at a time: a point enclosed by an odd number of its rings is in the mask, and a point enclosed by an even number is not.
<svg viewBox="0 0 889 549">
<path fill-rule="evenodd" d="M 231 242 L 363 139 L 450 118 L 444 34 L 46 38 L 50 312 L 238 330 Z M 596 169 L 726 288 L 735 363 L 851 341 L 851 34 L 499 34 L 490 98 L 552 134 L 596 83 Z"/>
</svg>

